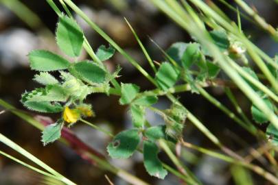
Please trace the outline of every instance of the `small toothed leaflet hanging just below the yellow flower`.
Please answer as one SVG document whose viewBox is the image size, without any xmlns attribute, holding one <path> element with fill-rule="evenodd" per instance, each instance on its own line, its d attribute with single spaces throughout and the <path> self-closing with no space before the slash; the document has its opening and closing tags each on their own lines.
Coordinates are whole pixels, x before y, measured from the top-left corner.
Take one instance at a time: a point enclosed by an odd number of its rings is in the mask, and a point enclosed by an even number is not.
<svg viewBox="0 0 278 185">
<path fill-rule="evenodd" d="M 62 130 L 62 122 L 57 121 L 56 123 L 53 123 L 51 125 L 48 125 L 45 127 L 45 130 L 43 130 L 43 136 L 41 141 L 43 141 L 43 145 L 47 145 L 48 143 L 52 143 L 55 140 L 58 140 L 61 136 L 61 130 Z"/>
</svg>

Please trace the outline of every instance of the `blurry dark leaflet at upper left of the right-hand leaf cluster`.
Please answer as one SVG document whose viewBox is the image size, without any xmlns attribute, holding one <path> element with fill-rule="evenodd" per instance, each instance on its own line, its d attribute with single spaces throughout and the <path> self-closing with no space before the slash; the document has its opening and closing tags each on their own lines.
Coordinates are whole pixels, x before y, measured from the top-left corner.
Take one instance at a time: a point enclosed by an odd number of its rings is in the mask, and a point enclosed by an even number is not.
<svg viewBox="0 0 278 185">
<path fill-rule="evenodd" d="M 170 56 L 174 61 L 181 64 L 181 60 L 183 58 L 183 53 L 185 53 L 185 49 L 187 47 L 187 43 L 185 42 L 176 42 L 171 45 L 169 49 L 167 49 L 166 53 Z"/>
</svg>

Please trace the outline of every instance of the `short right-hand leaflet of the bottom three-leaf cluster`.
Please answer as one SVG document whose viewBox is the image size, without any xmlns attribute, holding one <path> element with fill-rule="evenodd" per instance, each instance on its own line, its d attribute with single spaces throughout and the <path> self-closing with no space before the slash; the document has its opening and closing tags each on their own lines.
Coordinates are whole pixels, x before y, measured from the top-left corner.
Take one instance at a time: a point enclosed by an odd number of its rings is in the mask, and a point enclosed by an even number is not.
<svg viewBox="0 0 278 185">
<path fill-rule="evenodd" d="M 144 135 L 148 138 L 148 140 L 152 142 L 156 142 L 157 140 L 163 138 L 165 140 L 170 140 L 175 143 L 175 140 L 166 134 L 166 126 L 158 125 L 154 127 L 148 127 L 144 132 Z"/>
</svg>

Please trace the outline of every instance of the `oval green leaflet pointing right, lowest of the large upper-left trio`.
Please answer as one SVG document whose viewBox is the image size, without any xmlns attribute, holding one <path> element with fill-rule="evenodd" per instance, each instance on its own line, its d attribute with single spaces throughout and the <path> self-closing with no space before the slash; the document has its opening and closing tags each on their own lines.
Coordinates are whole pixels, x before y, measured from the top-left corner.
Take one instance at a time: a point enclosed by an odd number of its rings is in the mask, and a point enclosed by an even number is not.
<svg viewBox="0 0 278 185">
<path fill-rule="evenodd" d="M 88 83 L 101 84 L 105 82 L 106 71 L 97 64 L 89 61 L 78 62 L 73 65 L 73 73 Z"/>
</svg>

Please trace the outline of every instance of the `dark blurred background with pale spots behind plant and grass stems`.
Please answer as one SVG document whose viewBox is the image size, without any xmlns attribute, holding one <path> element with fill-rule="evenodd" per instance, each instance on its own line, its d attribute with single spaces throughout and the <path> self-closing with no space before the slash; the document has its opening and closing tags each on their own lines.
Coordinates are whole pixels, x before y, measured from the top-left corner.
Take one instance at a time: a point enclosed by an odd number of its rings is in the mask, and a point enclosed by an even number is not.
<svg viewBox="0 0 278 185">
<path fill-rule="evenodd" d="M 161 62 L 164 59 L 161 51 L 159 51 L 150 38 L 163 49 L 167 49 L 174 42 L 189 42 L 192 40 L 183 29 L 161 14 L 148 0 L 79 0 L 73 2 L 150 72 L 148 62 L 126 25 L 124 17 L 130 21 L 130 24 L 147 47 L 153 60 Z M 231 18 L 236 20 L 235 12 L 229 10 L 219 1 L 213 2 L 219 5 Z M 233 5 L 232 1 L 228 2 Z M 259 14 L 266 18 L 266 21 L 272 24 L 273 27 L 277 27 L 278 6 L 274 1 L 248 0 L 247 3 L 253 5 Z M 32 14 L 27 9 L 30 9 Z M 84 29 L 84 33 L 93 49 L 97 49 L 100 45 L 108 45 L 81 18 L 76 17 L 76 19 L 82 29 Z M 46 1 L 0 0 L 0 97 L 16 108 L 25 110 L 19 101 L 21 94 L 25 90 L 29 91 L 40 86 L 32 80 L 35 71 L 30 70 L 27 53 L 32 49 L 48 49 L 61 53 L 54 39 L 57 21 L 58 18 L 55 12 L 51 10 Z M 250 34 L 253 42 L 271 57 L 275 56 L 278 47 L 268 34 L 258 29 L 255 25 L 244 21 L 244 19 L 242 20 L 242 27 L 246 34 Z M 81 58 L 89 57 L 83 52 Z M 154 88 L 119 53 L 116 53 L 111 60 L 106 61 L 106 65 L 111 71 L 115 70 L 117 64 L 122 68 L 119 81 L 137 84 L 141 86 L 142 90 Z M 222 88 L 210 88 L 209 93 L 233 110 L 233 106 L 224 95 Z M 250 116 L 250 102 L 238 90 L 233 90 L 233 93 L 235 93 L 244 112 Z M 259 146 L 259 143 L 257 143 L 253 136 L 231 121 L 231 119 L 222 114 L 220 110 L 212 106 L 200 95 L 188 92 L 181 93 L 178 97 L 180 97 L 186 108 L 192 111 L 200 121 L 205 123 L 213 134 L 220 138 L 222 143 L 228 145 L 231 149 L 244 153 L 250 150 L 251 147 Z M 91 95 L 88 97 L 87 102 L 93 105 L 97 115 L 94 119 L 90 119 L 90 121 L 105 127 L 107 130 L 111 130 L 115 134 L 131 127 L 130 116 L 127 112 L 128 108 L 119 106 L 118 98 L 112 95 L 110 97 L 106 95 Z M 169 108 L 170 102 L 161 97 L 156 106 L 160 109 L 166 109 Z M 1 108 L 1 110 L 3 109 Z M 32 116 L 37 115 L 36 112 L 30 112 L 30 114 Z M 147 111 L 146 114 L 148 121 L 152 125 L 163 124 L 163 119 L 156 114 L 150 111 Z M 50 116 L 51 119 L 56 120 L 60 115 L 43 114 L 43 116 Z M 27 149 L 34 156 L 40 158 L 77 184 L 108 184 L 104 175 L 108 175 L 115 184 L 126 184 L 119 177 L 102 171 L 89 162 L 82 160 L 71 149 L 58 142 L 43 147 L 43 144 L 40 142 L 40 132 L 8 111 L 0 114 L 0 123 L 0 132 L 2 134 L 14 140 L 21 147 Z M 261 127 L 261 129 L 265 130 L 264 127 Z M 109 142 L 107 136 L 82 123 L 77 123 L 71 130 L 85 143 L 107 156 L 106 145 Z M 216 149 L 217 151 L 217 147 L 211 144 L 188 121 L 184 136 L 185 140 L 189 143 L 209 149 Z M 24 160 L 22 156 L 12 151 L 12 149 L 4 145 L 0 145 L 0 148 L 12 154 L 12 156 Z M 196 151 L 183 149 L 182 152 L 185 164 L 194 171 L 204 184 L 234 184 L 229 171 L 229 164 L 215 158 L 202 156 L 202 154 L 196 153 Z M 159 157 L 167 164 L 172 165 L 163 153 Z M 109 160 L 117 167 L 126 169 L 150 184 L 182 183 L 172 175 L 167 175 L 164 181 L 150 177 L 143 167 L 142 155 L 140 153 L 136 153 L 128 160 Z M 265 184 L 261 177 L 255 174 L 251 175 L 253 175 L 255 184 Z M 37 173 L 0 156 L 0 184 L 40 184 L 41 178 Z"/>
</svg>

